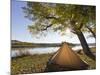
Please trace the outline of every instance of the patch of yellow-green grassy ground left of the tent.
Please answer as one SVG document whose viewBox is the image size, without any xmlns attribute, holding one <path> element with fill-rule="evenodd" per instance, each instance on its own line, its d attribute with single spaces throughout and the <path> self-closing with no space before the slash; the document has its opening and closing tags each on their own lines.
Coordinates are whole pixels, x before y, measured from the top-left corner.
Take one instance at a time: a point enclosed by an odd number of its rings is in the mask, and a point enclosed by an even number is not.
<svg viewBox="0 0 100 75">
<path fill-rule="evenodd" d="M 43 72 L 51 56 L 52 54 L 41 54 L 12 58 L 12 75 Z"/>
</svg>

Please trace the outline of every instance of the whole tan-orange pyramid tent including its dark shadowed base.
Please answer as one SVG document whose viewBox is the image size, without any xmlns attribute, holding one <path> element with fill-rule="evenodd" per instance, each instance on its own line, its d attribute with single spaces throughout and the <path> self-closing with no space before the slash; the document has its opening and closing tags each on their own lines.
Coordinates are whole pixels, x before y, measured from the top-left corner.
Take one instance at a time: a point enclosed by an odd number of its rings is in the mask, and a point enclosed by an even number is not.
<svg viewBox="0 0 100 75">
<path fill-rule="evenodd" d="M 85 70 L 87 67 L 88 65 L 79 58 L 68 44 L 63 42 L 60 49 L 48 61 L 46 71 Z"/>
</svg>

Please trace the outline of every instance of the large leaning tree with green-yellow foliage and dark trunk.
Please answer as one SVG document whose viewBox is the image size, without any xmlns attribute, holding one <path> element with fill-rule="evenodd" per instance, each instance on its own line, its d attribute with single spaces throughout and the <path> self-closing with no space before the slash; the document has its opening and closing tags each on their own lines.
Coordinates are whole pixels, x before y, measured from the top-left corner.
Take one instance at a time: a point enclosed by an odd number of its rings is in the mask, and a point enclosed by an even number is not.
<svg viewBox="0 0 100 75">
<path fill-rule="evenodd" d="M 78 36 L 84 53 L 95 60 L 82 33 L 89 23 L 95 24 L 95 6 L 27 2 L 23 10 L 34 22 L 28 27 L 33 35 L 48 29 L 64 33 L 69 28 Z"/>
</svg>

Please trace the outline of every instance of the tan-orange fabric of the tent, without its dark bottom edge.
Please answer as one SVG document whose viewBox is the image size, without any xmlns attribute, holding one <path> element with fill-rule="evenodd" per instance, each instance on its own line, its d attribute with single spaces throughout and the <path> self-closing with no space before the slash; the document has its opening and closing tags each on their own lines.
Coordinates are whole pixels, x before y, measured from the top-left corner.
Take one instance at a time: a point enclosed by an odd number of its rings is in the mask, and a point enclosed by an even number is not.
<svg viewBox="0 0 100 75">
<path fill-rule="evenodd" d="M 84 69 L 88 65 L 64 42 L 61 48 L 50 59 L 49 64 L 56 64 L 61 67 Z"/>
</svg>

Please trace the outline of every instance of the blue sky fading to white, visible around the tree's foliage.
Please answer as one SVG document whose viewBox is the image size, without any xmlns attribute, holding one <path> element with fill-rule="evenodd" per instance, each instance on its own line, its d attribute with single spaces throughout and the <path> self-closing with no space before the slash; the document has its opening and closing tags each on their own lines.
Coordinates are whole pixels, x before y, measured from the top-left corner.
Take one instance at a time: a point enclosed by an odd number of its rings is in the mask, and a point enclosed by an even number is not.
<svg viewBox="0 0 100 75">
<path fill-rule="evenodd" d="M 12 0 L 12 11 L 11 11 L 11 30 L 12 30 L 12 40 L 20 40 L 26 42 L 37 42 L 37 43 L 60 43 L 62 41 L 71 43 L 80 43 L 78 37 L 73 33 L 66 31 L 66 35 L 61 36 L 57 32 L 47 32 L 47 35 L 36 38 L 35 35 L 32 36 L 28 31 L 28 25 L 32 24 L 32 21 L 25 18 L 25 14 L 22 7 L 26 6 L 26 2 Z M 85 34 L 87 37 L 89 34 Z M 88 43 L 94 43 L 94 38 L 86 39 Z"/>
</svg>

